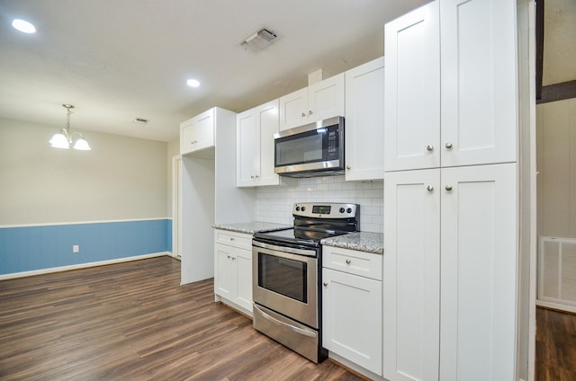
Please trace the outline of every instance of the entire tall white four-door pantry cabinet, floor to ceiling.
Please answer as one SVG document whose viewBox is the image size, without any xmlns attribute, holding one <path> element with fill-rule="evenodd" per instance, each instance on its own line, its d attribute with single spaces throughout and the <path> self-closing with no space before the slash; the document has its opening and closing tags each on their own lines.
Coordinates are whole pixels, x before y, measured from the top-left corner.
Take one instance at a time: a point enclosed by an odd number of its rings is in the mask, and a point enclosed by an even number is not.
<svg viewBox="0 0 576 381">
<path fill-rule="evenodd" d="M 515 0 L 385 26 L 383 377 L 514 380 Z"/>
</svg>

